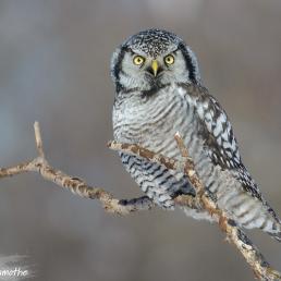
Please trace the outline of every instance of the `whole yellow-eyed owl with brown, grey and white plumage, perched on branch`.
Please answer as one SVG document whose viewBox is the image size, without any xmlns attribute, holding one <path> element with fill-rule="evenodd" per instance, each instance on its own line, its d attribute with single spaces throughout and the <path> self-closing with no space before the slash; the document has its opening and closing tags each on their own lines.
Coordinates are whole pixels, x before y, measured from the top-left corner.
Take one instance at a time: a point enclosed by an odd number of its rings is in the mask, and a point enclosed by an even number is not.
<svg viewBox="0 0 281 281">
<path fill-rule="evenodd" d="M 180 132 L 205 187 L 240 225 L 259 228 L 281 241 L 281 224 L 244 167 L 231 123 L 201 86 L 195 54 L 176 35 L 140 32 L 113 53 L 117 86 L 113 130 L 118 142 L 138 144 L 180 159 L 174 142 Z M 143 192 L 163 208 L 173 208 L 179 193 L 195 194 L 185 175 L 145 159 L 121 154 L 126 170 Z M 210 217 L 185 209 L 196 219 Z"/>
</svg>

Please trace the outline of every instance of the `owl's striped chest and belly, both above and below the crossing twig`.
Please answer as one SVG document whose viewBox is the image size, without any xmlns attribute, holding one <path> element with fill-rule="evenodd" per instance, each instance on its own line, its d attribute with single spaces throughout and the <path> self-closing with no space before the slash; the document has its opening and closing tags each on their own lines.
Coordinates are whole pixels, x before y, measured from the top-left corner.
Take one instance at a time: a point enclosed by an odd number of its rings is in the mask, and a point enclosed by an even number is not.
<svg viewBox="0 0 281 281">
<path fill-rule="evenodd" d="M 120 143 L 138 144 L 180 160 L 181 152 L 174 139 L 179 132 L 198 167 L 198 173 L 204 180 L 208 180 L 211 161 L 199 134 L 200 123 L 195 105 L 192 99 L 186 99 L 186 91 L 179 85 L 163 87 L 150 97 L 142 97 L 139 93 L 124 99 L 119 97 L 113 109 L 114 138 Z M 191 192 L 182 172 L 168 171 L 163 167 L 151 166 L 144 159 L 124 154 L 121 154 L 121 158 L 142 190 L 161 206 L 171 204 L 170 199 L 167 200 L 168 194 L 171 196 L 179 190 Z M 159 194 L 163 194 L 163 198 Z"/>
</svg>

